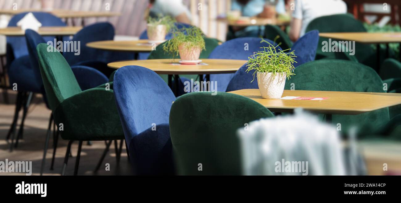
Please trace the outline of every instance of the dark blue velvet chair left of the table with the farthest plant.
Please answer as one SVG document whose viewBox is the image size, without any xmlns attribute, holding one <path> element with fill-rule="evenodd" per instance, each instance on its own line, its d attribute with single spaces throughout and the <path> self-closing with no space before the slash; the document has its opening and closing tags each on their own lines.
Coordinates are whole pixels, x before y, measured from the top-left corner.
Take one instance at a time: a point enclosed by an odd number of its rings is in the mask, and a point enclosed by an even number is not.
<svg viewBox="0 0 401 203">
<path fill-rule="evenodd" d="M 72 41 L 80 42 L 80 55 L 75 55 L 74 52 L 65 52 L 63 53 L 63 56 L 70 66 L 85 65 L 93 67 L 109 77 L 111 73 L 115 71 L 115 69 L 107 67 L 107 63 L 133 59 L 134 54 L 93 49 L 87 47 L 86 44 L 95 41 L 106 41 L 113 39 L 114 27 L 108 22 L 100 22 L 86 26 L 72 39 Z"/>
</svg>

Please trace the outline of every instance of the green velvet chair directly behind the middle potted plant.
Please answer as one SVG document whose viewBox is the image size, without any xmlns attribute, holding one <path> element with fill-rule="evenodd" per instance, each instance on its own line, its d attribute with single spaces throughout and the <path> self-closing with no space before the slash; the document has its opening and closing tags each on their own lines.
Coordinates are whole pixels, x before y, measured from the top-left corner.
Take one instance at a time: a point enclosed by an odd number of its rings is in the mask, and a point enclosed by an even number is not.
<svg viewBox="0 0 401 203">
<path fill-rule="evenodd" d="M 202 50 L 201 55 L 199 57 L 200 59 L 207 59 L 209 57 L 210 53 L 213 51 L 213 49 L 215 49 L 217 46 L 219 46 L 219 43 L 221 43 L 219 40 L 213 39 L 213 38 L 204 37 L 204 39 L 205 39 L 205 49 L 206 50 Z M 166 42 L 164 42 L 164 43 L 166 43 Z M 150 52 L 148 59 L 172 59 L 173 57 L 175 59 L 180 58 L 179 56 L 165 53 L 163 51 L 164 43 L 158 45 L 156 47 L 156 50 Z M 167 75 L 160 75 L 160 77 L 162 77 L 163 80 L 167 83 L 167 81 L 168 81 Z M 185 77 L 188 79 L 196 80 L 196 77 L 198 77 L 198 75 L 180 75 L 180 77 Z"/>
</svg>

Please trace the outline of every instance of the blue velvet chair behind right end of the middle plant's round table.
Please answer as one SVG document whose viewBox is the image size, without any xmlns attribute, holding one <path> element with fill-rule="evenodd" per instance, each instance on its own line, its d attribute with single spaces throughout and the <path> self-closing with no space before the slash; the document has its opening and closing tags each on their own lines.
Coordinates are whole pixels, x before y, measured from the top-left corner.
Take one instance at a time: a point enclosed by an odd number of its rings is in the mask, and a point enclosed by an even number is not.
<svg viewBox="0 0 401 203">
<path fill-rule="evenodd" d="M 272 45 L 274 44 L 273 41 L 269 39 L 265 40 L 271 43 Z M 219 47 L 216 47 L 216 49 L 213 50 L 212 53 L 209 55 L 209 59 L 248 60 L 248 57 L 253 55 L 254 52 L 262 51 L 263 49 L 261 47 L 269 46 L 267 43 L 260 43 L 260 41 L 261 39 L 257 37 L 243 37 L 229 40 L 220 45 Z M 277 49 L 281 50 L 280 47 L 277 47 Z M 234 77 L 235 74 L 236 73 L 211 74 L 210 80 L 217 81 L 217 91 L 226 91 L 228 84 L 230 83 L 231 79 Z M 246 80 L 245 78 L 243 79 Z M 249 82 L 250 81 L 251 80 L 249 80 Z"/>
</svg>

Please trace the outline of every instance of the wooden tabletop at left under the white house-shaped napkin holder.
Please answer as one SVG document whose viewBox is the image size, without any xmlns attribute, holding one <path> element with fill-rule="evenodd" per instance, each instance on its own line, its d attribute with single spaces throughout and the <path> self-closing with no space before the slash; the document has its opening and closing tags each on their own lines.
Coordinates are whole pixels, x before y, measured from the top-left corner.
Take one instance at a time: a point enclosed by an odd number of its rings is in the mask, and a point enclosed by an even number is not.
<svg viewBox="0 0 401 203">
<path fill-rule="evenodd" d="M 38 33 L 42 36 L 68 36 L 77 34 L 81 29 L 81 26 L 41 27 Z M 0 29 L 0 35 L 22 37 L 25 32 L 20 27 L 6 27 Z"/>
</svg>

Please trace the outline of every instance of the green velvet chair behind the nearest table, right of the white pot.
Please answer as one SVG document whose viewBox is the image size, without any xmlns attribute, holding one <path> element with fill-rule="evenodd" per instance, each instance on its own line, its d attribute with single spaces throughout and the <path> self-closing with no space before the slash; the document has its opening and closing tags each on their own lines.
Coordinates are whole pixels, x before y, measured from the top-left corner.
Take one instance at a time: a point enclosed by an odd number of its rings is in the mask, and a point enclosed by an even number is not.
<svg viewBox="0 0 401 203">
<path fill-rule="evenodd" d="M 383 81 L 371 67 L 363 64 L 322 59 L 298 66 L 286 81 L 286 89 L 318 91 L 386 92 Z M 344 98 L 347 99 L 347 98 Z M 372 133 L 389 121 L 389 108 L 359 115 L 333 115 L 332 123 L 341 124 L 342 132 L 357 126 L 360 134 Z"/>
</svg>

